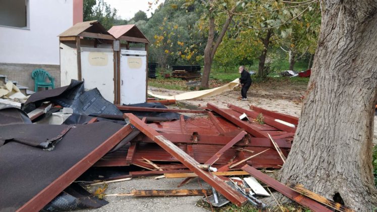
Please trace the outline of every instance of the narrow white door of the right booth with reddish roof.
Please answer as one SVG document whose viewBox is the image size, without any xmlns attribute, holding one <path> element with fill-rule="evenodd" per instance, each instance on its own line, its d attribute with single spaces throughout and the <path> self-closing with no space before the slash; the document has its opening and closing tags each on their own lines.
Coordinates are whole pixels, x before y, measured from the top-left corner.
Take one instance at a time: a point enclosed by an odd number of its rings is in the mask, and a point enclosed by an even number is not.
<svg viewBox="0 0 377 212">
<path fill-rule="evenodd" d="M 146 51 L 121 50 L 121 103 L 146 102 Z"/>
</svg>

